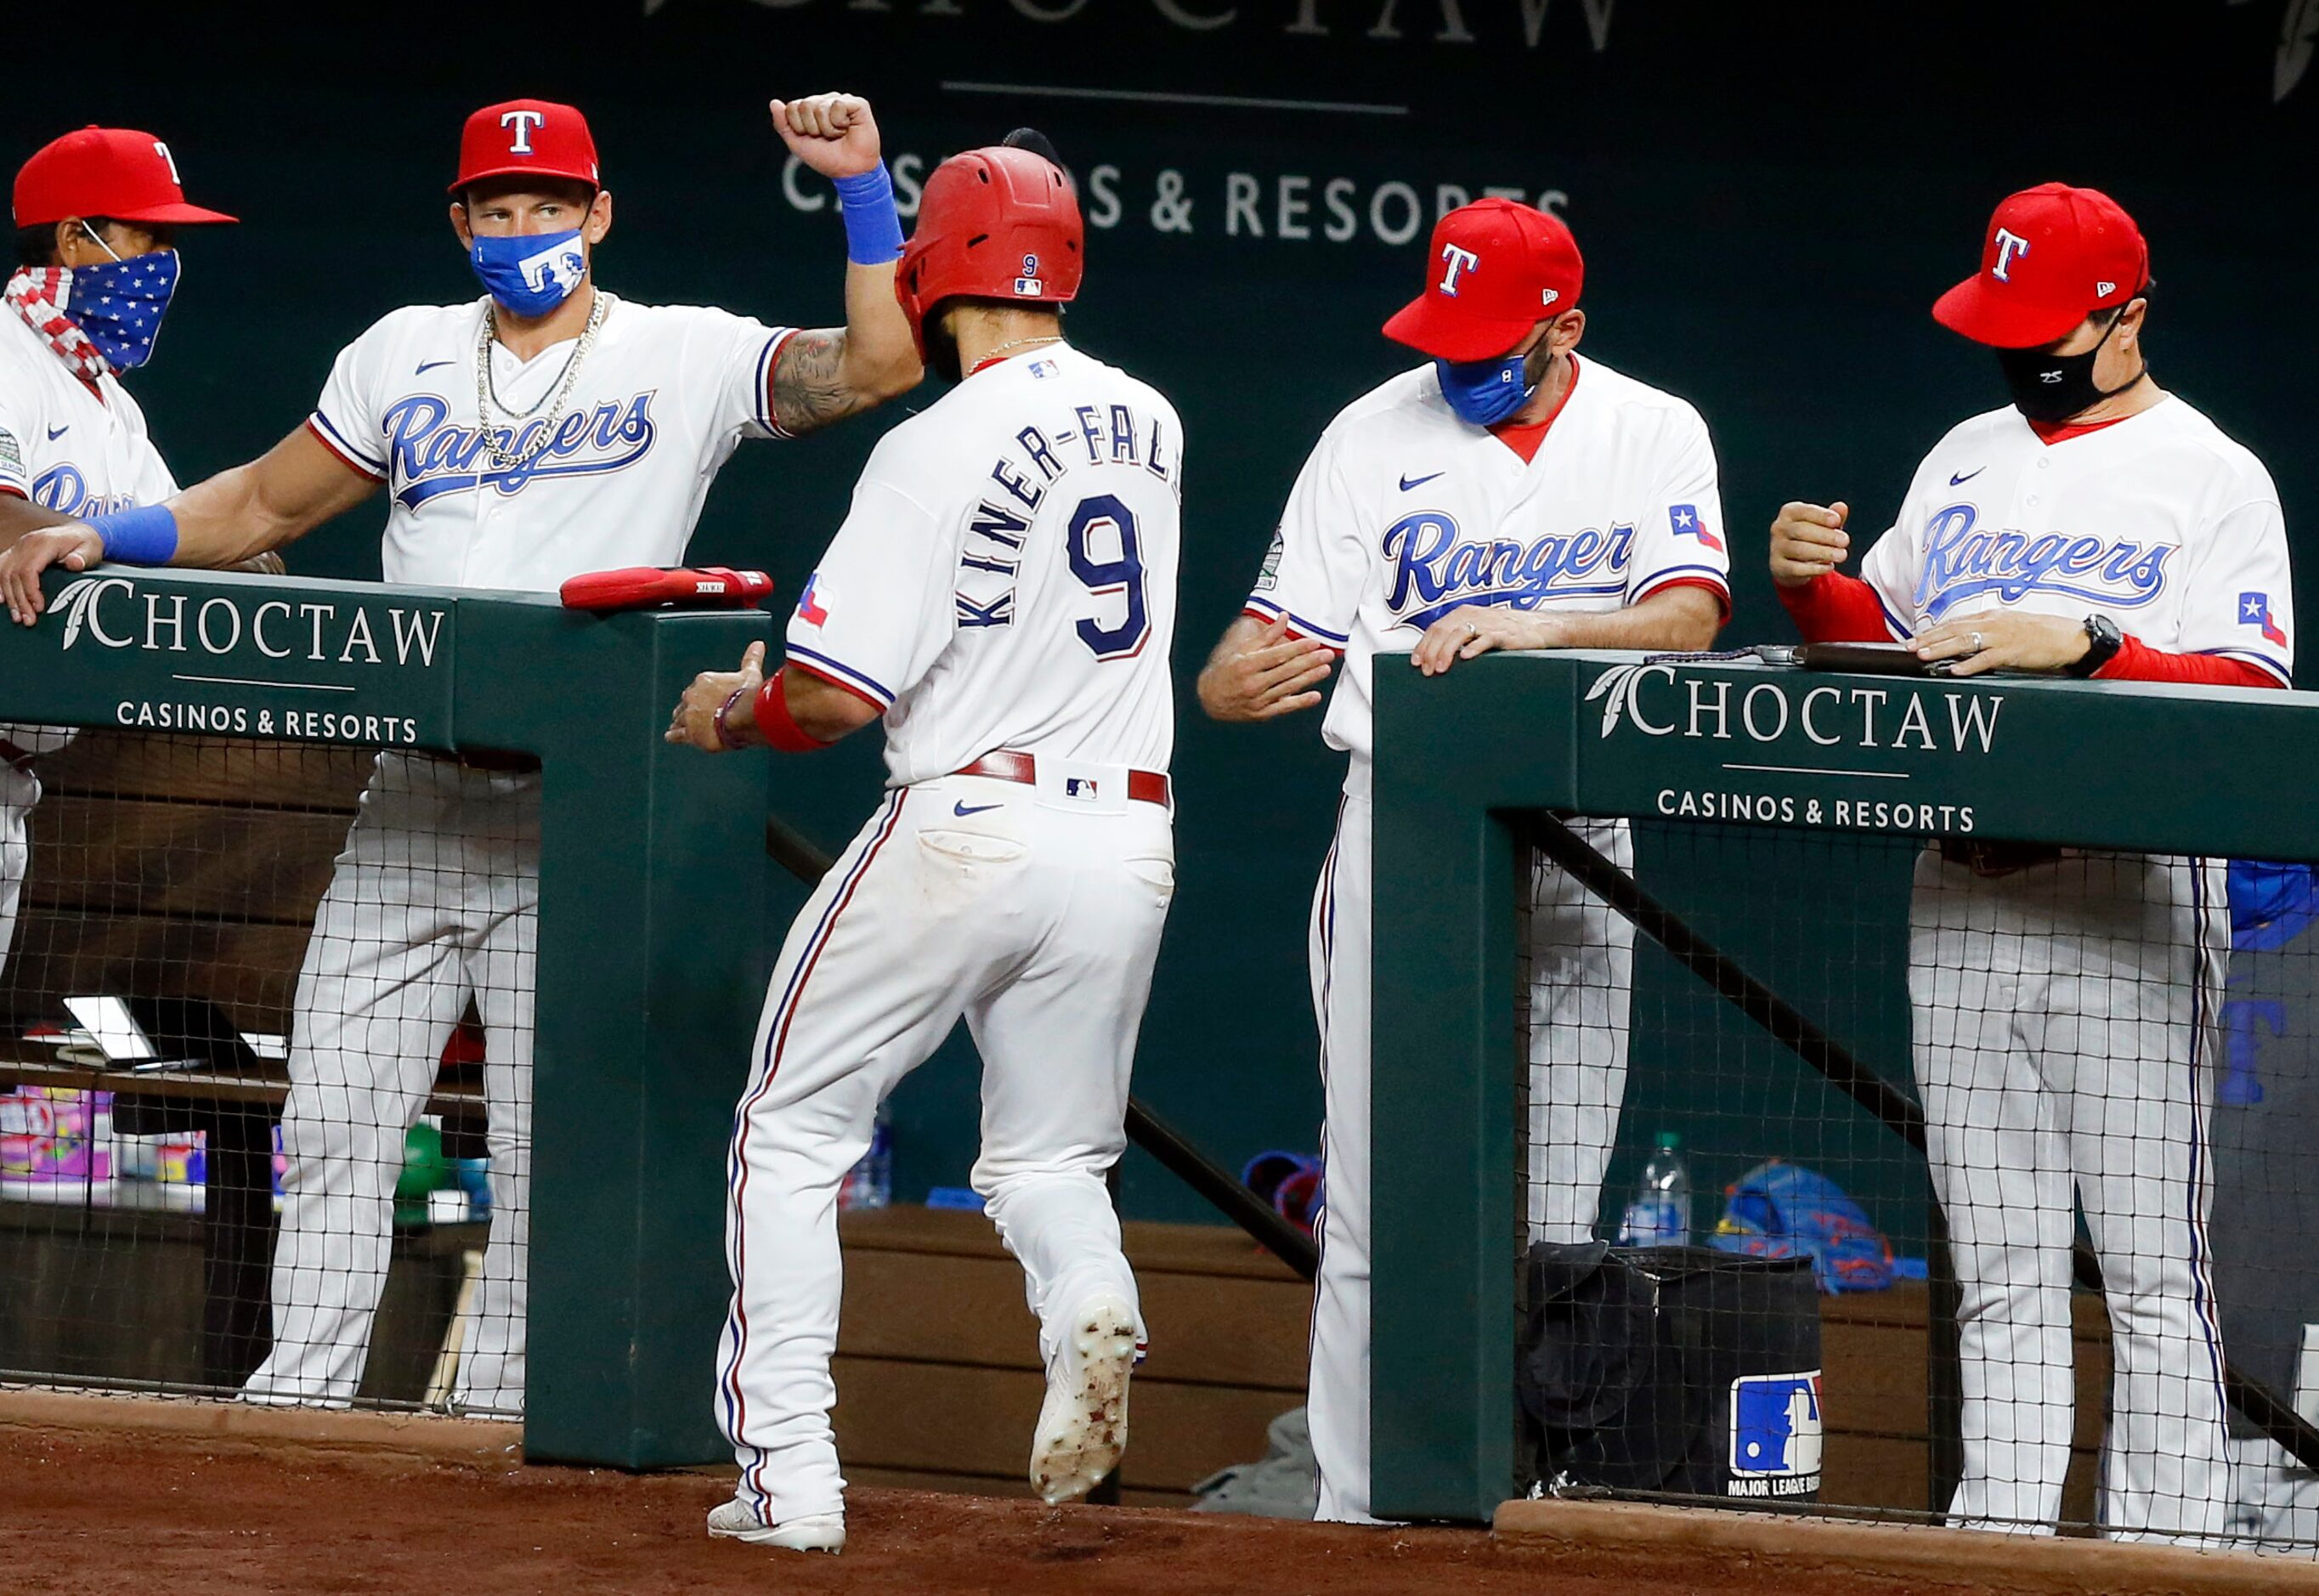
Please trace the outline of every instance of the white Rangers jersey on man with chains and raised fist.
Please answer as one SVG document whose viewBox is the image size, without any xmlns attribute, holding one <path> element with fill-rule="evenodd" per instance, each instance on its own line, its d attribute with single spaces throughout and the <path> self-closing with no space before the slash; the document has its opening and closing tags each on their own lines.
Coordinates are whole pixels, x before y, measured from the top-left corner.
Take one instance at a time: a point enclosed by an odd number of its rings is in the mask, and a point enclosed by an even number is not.
<svg viewBox="0 0 2319 1596">
<path fill-rule="evenodd" d="M 306 422 L 387 485 L 390 582 L 552 592 L 584 571 L 673 566 L 733 448 L 782 436 L 765 385 L 793 329 L 605 295 L 545 450 L 501 471 L 475 394 L 487 304 L 385 315 L 339 353 Z M 517 360 L 492 343 L 492 427 L 508 452 L 543 436 L 575 348 Z"/>
</svg>

